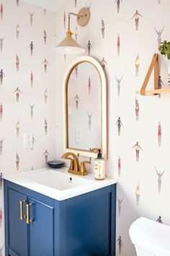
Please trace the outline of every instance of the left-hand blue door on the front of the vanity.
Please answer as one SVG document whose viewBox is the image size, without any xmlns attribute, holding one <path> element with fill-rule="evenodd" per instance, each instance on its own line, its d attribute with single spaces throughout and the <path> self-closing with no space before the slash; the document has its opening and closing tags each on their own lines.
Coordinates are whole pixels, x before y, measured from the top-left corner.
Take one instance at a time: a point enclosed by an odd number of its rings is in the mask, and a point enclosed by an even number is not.
<svg viewBox="0 0 170 256">
<path fill-rule="evenodd" d="M 8 230 L 9 230 L 9 251 L 12 250 L 19 256 L 27 256 L 27 224 L 25 218 L 20 219 L 21 203 L 23 202 L 23 216 L 25 216 L 26 195 L 13 189 L 8 189 Z"/>
</svg>

